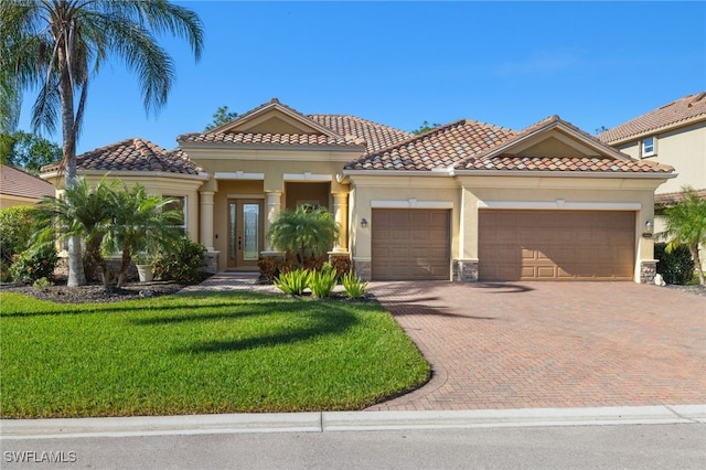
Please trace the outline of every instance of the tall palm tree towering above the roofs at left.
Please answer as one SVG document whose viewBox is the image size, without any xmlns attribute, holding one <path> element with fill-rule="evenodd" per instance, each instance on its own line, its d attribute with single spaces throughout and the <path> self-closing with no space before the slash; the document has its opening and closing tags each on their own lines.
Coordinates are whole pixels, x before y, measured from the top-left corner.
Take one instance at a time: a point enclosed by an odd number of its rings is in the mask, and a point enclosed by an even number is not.
<svg viewBox="0 0 706 470">
<path fill-rule="evenodd" d="M 201 20 L 165 0 L 3 0 L 0 2 L 0 122 L 12 122 L 22 90 L 39 89 L 35 129 L 54 130 L 61 113 L 65 185 L 76 180 L 76 139 L 88 82 L 110 56 L 137 72 L 145 107 L 159 110 L 174 81 L 170 55 L 154 34 L 186 39 L 196 57 Z M 68 241 L 68 285 L 85 284 L 81 244 Z"/>
</svg>

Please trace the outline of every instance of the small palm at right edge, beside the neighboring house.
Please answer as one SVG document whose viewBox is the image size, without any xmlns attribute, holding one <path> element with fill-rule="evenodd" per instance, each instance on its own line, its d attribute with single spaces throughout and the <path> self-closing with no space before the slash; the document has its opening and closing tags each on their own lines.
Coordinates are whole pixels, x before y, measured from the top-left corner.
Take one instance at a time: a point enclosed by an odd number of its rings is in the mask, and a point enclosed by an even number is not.
<svg viewBox="0 0 706 470">
<path fill-rule="evenodd" d="M 678 245 L 688 247 L 694 265 L 696 265 L 698 281 L 704 286 L 706 281 L 704 280 L 698 247 L 706 244 L 706 199 L 699 197 L 689 186 L 684 186 L 683 191 L 684 199 L 664 210 L 666 228 L 659 235 L 668 241 L 667 253 Z"/>
</svg>

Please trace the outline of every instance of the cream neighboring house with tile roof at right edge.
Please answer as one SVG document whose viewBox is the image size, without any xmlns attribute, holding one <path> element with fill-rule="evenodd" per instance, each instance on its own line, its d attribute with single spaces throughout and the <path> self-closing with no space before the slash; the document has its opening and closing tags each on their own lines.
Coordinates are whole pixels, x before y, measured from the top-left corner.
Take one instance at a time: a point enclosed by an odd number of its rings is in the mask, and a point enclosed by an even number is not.
<svg viewBox="0 0 706 470">
<path fill-rule="evenodd" d="M 632 158 L 674 168 L 676 178 L 655 191 L 657 212 L 680 202 L 684 186 L 691 186 L 706 197 L 706 92 L 684 96 L 597 138 Z M 664 217 L 657 216 L 655 232 L 664 229 Z M 704 253 L 705 247 L 700 249 Z M 706 268 L 706 259 L 703 265 Z"/>
</svg>

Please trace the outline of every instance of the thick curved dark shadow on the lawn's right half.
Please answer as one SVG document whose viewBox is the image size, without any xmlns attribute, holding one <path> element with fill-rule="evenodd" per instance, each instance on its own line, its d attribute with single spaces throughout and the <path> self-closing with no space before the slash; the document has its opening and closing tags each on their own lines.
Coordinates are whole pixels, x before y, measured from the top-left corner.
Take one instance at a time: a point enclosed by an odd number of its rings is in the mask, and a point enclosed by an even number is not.
<svg viewBox="0 0 706 470">
<path fill-rule="evenodd" d="M 304 311 L 306 306 L 289 309 L 288 313 L 297 313 L 298 310 Z M 233 317 L 240 317 L 240 314 L 234 314 Z M 311 320 L 313 320 L 313 324 L 311 324 Z M 310 323 L 307 327 L 287 328 L 286 331 L 242 340 L 196 341 L 189 346 L 174 349 L 173 352 L 175 354 L 224 353 L 256 348 L 272 348 L 308 341 L 317 337 L 342 335 L 359 323 L 359 319 L 352 312 L 334 306 L 330 306 L 325 314 L 318 311 L 310 312 L 306 321 Z"/>
</svg>

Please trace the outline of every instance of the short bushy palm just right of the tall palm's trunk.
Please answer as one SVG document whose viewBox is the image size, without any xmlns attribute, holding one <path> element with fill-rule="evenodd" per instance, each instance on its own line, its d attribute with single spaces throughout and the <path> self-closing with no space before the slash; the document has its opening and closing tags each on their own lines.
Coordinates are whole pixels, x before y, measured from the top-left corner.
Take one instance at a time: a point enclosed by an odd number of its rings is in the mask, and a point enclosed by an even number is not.
<svg viewBox="0 0 706 470">
<path fill-rule="evenodd" d="M 174 200 L 148 195 L 139 183 L 129 189 L 124 185 L 124 190 L 115 192 L 114 197 L 113 220 L 105 247 L 122 253 L 117 282 L 117 287 L 122 287 L 133 255 L 141 252 L 154 254 L 183 235 L 182 216 L 179 211 L 167 210 Z"/>
</svg>

